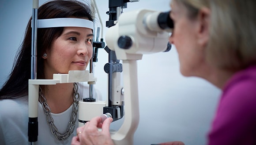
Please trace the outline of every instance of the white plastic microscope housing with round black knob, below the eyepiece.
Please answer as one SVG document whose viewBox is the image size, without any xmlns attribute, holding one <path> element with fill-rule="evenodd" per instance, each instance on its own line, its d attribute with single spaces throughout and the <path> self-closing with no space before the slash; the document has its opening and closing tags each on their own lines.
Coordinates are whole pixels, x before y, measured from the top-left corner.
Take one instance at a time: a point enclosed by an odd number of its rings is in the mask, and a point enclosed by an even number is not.
<svg viewBox="0 0 256 145">
<path fill-rule="evenodd" d="M 117 59 L 139 60 L 142 59 L 142 54 L 166 51 L 169 33 L 160 29 L 151 31 L 148 28 L 148 25 L 156 25 L 156 14 L 156 11 L 137 10 L 120 15 L 117 25 L 110 27 L 105 36 L 109 49 L 116 52 Z M 147 18 L 154 20 L 149 21 Z M 129 49 L 118 47 L 117 40 L 123 35 L 132 39 L 132 47 Z"/>
</svg>

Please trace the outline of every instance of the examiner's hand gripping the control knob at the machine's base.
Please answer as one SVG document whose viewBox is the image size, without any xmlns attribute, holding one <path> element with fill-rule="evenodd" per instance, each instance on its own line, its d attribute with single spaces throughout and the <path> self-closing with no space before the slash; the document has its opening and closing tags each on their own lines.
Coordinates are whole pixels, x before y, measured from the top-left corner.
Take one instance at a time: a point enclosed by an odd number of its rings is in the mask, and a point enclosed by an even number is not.
<svg viewBox="0 0 256 145">
<path fill-rule="evenodd" d="M 72 138 L 71 145 L 114 145 L 109 132 L 112 118 L 101 123 L 101 117 L 94 117 L 85 126 L 76 129 L 77 136 Z M 99 131 L 98 128 L 102 128 Z"/>
</svg>

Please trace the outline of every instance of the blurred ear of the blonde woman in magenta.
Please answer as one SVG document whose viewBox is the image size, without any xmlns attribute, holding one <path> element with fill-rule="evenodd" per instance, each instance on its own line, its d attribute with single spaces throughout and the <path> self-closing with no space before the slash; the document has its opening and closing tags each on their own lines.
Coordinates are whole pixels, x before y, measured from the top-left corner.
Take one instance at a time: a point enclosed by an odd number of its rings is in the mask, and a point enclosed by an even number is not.
<svg viewBox="0 0 256 145">
<path fill-rule="evenodd" d="M 210 10 L 206 7 L 200 9 L 198 13 L 198 43 L 201 46 L 206 46 L 209 40 L 210 14 Z"/>
</svg>

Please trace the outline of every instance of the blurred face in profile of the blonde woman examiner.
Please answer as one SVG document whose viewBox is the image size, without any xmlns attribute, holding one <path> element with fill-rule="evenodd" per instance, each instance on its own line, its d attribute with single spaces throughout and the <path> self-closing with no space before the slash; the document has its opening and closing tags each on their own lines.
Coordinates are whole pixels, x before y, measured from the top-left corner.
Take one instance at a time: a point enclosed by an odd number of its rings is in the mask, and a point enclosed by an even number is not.
<svg viewBox="0 0 256 145">
<path fill-rule="evenodd" d="M 199 70 L 197 67 L 203 59 L 203 52 L 197 40 L 198 22 L 188 18 L 186 7 L 176 0 L 172 0 L 170 18 L 173 20 L 174 29 L 169 41 L 177 49 L 180 71 L 184 76 L 196 76 Z"/>
</svg>

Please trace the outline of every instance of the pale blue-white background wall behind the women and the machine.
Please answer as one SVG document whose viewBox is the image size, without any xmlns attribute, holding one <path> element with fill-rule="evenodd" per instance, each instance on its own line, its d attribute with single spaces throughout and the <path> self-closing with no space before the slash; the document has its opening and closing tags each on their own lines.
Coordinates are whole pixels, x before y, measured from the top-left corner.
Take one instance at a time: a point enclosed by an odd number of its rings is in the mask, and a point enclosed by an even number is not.
<svg viewBox="0 0 256 145">
<path fill-rule="evenodd" d="M 39 0 L 39 4 L 45 0 Z M 96 0 L 102 21 L 108 20 L 108 0 Z M 11 71 L 16 51 L 23 40 L 32 14 L 32 0 L 0 0 L 0 86 Z M 140 0 L 128 3 L 126 11 L 146 8 L 168 11 L 169 0 Z M 99 22 L 97 22 L 99 24 Z M 104 27 L 104 31 L 107 28 Z M 100 49 L 95 63 L 95 85 L 106 97 L 107 74 L 103 66 L 107 53 Z M 22 73 L 22 72 L 21 72 Z M 186 145 L 206 144 L 220 91 L 205 80 L 181 76 L 175 47 L 166 53 L 143 55 L 138 61 L 139 127 L 134 145 L 184 141 Z M 112 124 L 118 129 L 122 120 Z"/>
</svg>

